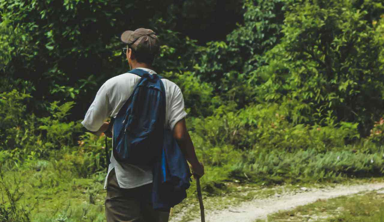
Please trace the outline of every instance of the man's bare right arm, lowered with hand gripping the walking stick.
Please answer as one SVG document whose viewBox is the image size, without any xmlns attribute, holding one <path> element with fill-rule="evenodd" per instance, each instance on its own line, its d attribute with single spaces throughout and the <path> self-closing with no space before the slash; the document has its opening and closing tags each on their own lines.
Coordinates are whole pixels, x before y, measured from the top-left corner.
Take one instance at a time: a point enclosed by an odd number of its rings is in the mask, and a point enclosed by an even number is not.
<svg viewBox="0 0 384 222">
<path fill-rule="evenodd" d="M 178 121 L 173 128 L 173 136 L 179 144 L 181 151 L 183 152 L 185 159 L 192 166 L 192 173 L 198 177 L 204 175 L 204 166 L 199 162 L 196 156 L 195 147 L 187 131 L 185 119 Z"/>
</svg>

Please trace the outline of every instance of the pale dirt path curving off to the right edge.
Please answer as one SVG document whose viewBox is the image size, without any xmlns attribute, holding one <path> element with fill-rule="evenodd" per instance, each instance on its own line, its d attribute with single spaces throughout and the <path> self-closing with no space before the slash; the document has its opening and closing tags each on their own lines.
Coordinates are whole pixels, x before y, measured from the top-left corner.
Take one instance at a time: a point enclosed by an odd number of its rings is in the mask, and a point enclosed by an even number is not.
<svg viewBox="0 0 384 222">
<path fill-rule="evenodd" d="M 254 222 L 256 219 L 266 219 L 268 214 L 278 210 L 289 210 L 300 205 L 310 204 L 318 199 L 356 194 L 361 191 L 383 189 L 384 183 L 372 183 L 353 186 L 336 186 L 334 188 L 307 189 L 301 187 L 295 192 L 275 195 L 266 199 L 256 199 L 243 202 L 240 205 L 224 210 L 206 212 L 207 222 Z M 177 220 L 172 220 L 177 221 Z M 193 220 L 199 222 L 200 219 Z"/>
</svg>

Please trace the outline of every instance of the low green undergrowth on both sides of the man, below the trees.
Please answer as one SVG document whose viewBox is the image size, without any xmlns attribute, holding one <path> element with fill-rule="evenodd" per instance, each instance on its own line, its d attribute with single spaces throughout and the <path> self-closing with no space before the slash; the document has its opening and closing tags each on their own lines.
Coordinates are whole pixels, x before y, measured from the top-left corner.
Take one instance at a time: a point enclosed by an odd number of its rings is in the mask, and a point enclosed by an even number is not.
<svg viewBox="0 0 384 222">
<path fill-rule="evenodd" d="M 103 220 L 104 135 L 84 133 L 79 121 L 68 119 L 73 102 L 53 102 L 50 114 L 37 118 L 23 105 L 27 94 L 12 91 L 0 97 L 2 220 Z M 228 181 L 342 182 L 384 174 L 384 121 L 376 123 L 371 136 L 359 138 L 357 124 L 336 122 L 331 113 L 318 124 L 295 123 L 295 101 L 239 111 L 233 106 L 187 119 L 205 165 L 204 195 L 230 192 Z M 192 183 L 187 194 L 194 197 L 194 192 Z"/>
</svg>

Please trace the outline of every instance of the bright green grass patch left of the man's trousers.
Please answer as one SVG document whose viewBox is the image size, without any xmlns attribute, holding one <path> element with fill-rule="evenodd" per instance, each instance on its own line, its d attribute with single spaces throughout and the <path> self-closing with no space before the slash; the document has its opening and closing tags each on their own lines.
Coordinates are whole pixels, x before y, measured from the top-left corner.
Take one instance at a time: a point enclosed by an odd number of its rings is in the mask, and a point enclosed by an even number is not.
<svg viewBox="0 0 384 222">
<path fill-rule="evenodd" d="M 103 189 L 105 173 L 76 178 L 73 172 L 55 169 L 50 162 L 42 168 L 22 168 L 3 172 L 0 202 L 5 211 L 1 221 L 26 212 L 31 221 L 104 221 Z M 11 204 L 10 200 L 15 200 Z M 16 205 L 16 209 L 12 209 Z M 10 219 L 4 215 L 8 212 Z"/>
</svg>

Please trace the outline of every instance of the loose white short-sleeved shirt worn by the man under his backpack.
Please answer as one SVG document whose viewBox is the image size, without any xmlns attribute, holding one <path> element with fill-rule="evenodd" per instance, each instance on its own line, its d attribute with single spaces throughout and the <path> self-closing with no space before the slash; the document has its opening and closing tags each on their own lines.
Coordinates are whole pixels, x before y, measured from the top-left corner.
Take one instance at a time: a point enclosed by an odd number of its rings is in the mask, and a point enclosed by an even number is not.
<svg viewBox="0 0 384 222">
<path fill-rule="evenodd" d="M 156 73 L 150 69 L 140 69 L 147 71 L 149 74 Z M 133 93 L 133 89 L 139 80 L 140 77 L 132 73 L 124 73 L 107 80 L 97 92 L 81 124 L 89 131 L 98 131 L 108 116 L 116 117 L 120 108 Z M 187 115 L 184 111 L 184 99 L 179 86 L 166 79 L 161 81 L 164 84 L 166 94 L 164 128 L 173 130 L 175 124 Z M 134 188 L 152 182 L 151 167 L 121 164 L 116 161 L 113 152 L 111 152 L 111 164 L 108 167 L 108 174 L 113 168 L 121 188 Z M 104 189 L 106 189 L 108 174 Z"/>
</svg>

